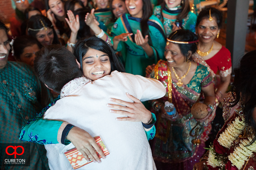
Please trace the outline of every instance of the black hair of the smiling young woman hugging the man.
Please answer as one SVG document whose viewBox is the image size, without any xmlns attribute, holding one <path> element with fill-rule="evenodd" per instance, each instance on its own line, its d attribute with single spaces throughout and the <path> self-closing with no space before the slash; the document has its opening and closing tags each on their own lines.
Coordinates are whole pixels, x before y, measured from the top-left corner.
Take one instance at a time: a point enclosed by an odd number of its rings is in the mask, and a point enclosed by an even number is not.
<svg viewBox="0 0 256 170">
<path fill-rule="evenodd" d="M 125 72 L 125 69 L 119 61 L 115 51 L 107 44 L 107 42 L 97 37 L 83 38 L 76 42 L 74 47 L 74 55 L 76 56 L 77 61 L 80 63 L 81 69 L 83 69 L 82 58 L 84 55 L 86 55 L 89 49 L 101 51 L 109 56 L 111 72 L 115 70 Z"/>
</svg>

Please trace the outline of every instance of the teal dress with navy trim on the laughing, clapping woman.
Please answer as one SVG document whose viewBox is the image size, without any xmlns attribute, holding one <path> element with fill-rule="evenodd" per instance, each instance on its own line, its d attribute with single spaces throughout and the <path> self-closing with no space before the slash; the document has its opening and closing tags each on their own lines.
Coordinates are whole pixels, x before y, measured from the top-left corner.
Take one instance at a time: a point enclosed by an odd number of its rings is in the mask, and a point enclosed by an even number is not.
<svg viewBox="0 0 256 170">
<path fill-rule="evenodd" d="M 119 43 L 116 51 L 127 48 L 125 69 L 127 73 L 145 76 L 145 70 L 148 65 L 156 63 L 159 59 L 163 59 L 164 47 L 166 45 L 165 31 L 162 22 L 154 15 L 149 18 L 149 36 L 154 54 L 148 56 L 141 46 L 136 45 L 134 37 L 140 28 L 141 18 L 131 17 L 129 14 L 123 14 L 119 17 L 111 28 L 113 36 L 121 33 L 133 33 L 124 43 Z"/>
</svg>

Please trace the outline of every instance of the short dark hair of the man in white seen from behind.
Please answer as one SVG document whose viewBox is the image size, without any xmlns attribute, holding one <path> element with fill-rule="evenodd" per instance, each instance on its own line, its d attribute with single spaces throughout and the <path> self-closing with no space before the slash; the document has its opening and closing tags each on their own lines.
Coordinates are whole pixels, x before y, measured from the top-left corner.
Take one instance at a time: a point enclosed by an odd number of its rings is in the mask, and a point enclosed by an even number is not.
<svg viewBox="0 0 256 170">
<path fill-rule="evenodd" d="M 39 79 L 58 93 L 69 81 L 83 76 L 75 56 L 59 45 L 43 47 L 36 54 L 34 69 Z"/>
</svg>

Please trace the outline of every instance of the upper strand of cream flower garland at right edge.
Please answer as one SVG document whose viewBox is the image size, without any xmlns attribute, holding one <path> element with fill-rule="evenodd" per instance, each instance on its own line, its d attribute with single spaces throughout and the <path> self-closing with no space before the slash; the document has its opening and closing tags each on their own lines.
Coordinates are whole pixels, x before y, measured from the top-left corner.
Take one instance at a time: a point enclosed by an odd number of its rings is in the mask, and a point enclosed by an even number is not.
<svg viewBox="0 0 256 170">
<path fill-rule="evenodd" d="M 242 119 L 242 121 L 240 121 Z M 244 117 L 236 117 L 235 120 L 225 129 L 225 131 L 220 134 L 218 138 L 218 142 L 226 147 L 230 148 L 233 144 L 234 140 L 242 133 L 243 129 L 245 128 L 245 121 Z"/>
</svg>

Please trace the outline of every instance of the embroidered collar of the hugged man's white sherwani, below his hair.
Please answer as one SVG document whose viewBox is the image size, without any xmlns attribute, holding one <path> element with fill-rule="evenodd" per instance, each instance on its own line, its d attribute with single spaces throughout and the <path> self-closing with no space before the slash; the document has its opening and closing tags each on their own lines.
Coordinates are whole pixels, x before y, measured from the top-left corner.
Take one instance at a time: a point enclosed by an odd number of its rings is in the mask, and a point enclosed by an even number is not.
<svg viewBox="0 0 256 170">
<path fill-rule="evenodd" d="M 82 85 L 86 85 L 87 83 L 91 82 L 92 80 L 86 77 L 79 77 L 71 80 L 65 86 L 62 87 L 60 92 L 60 99 L 69 95 L 70 93 L 74 92 L 76 89 L 81 87 Z"/>
</svg>

